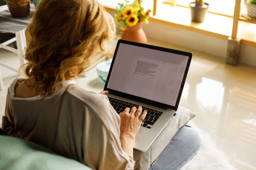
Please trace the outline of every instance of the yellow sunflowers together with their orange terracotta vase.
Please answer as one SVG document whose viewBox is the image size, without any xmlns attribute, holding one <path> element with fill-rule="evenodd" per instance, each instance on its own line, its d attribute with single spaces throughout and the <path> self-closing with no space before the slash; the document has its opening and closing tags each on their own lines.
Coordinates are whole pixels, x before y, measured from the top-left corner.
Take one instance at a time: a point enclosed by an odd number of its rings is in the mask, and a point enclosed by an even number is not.
<svg viewBox="0 0 256 170">
<path fill-rule="evenodd" d="M 124 0 L 117 6 L 117 14 L 114 16 L 118 24 L 122 24 L 124 30 L 121 39 L 146 43 L 147 38 L 142 29 L 142 23 L 148 24 L 149 13 L 151 10 L 144 11 L 141 6 L 142 0 Z"/>
</svg>

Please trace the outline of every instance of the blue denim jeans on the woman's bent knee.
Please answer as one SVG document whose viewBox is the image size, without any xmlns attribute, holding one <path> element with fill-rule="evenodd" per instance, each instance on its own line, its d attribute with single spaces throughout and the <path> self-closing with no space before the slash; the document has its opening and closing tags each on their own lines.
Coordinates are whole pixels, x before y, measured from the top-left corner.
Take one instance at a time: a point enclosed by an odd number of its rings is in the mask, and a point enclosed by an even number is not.
<svg viewBox="0 0 256 170">
<path fill-rule="evenodd" d="M 201 145 L 198 132 L 185 125 L 177 131 L 169 145 L 160 154 L 149 170 L 178 170 L 197 154 Z"/>
</svg>

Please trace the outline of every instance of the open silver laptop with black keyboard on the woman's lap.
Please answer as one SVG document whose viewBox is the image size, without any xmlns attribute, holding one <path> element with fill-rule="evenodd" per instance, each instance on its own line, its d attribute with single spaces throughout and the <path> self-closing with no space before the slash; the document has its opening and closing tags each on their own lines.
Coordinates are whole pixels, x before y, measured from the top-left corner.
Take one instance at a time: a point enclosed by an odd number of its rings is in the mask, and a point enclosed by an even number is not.
<svg viewBox="0 0 256 170">
<path fill-rule="evenodd" d="M 190 52 L 118 40 L 104 90 L 117 113 L 148 110 L 134 149 L 145 152 L 174 116 L 191 59 Z"/>
</svg>

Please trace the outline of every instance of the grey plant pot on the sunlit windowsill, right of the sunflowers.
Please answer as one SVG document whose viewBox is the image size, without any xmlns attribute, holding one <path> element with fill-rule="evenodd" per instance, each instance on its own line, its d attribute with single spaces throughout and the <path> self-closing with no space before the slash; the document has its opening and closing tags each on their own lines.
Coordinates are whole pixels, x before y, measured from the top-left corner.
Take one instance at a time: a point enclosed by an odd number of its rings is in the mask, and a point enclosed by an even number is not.
<svg viewBox="0 0 256 170">
<path fill-rule="evenodd" d="M 204 2 L 203 6 L 196 6 L 195 2 L 190 2 L 190 13 L 192 22 L 204 22 L 206 13 L 208 12 L 209 4 Z"/>
</svg>

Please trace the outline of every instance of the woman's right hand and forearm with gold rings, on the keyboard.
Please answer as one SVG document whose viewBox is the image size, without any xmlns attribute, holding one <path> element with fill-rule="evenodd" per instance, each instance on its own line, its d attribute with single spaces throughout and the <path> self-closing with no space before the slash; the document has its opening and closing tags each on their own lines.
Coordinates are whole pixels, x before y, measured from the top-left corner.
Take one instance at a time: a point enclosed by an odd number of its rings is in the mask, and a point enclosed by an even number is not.
<svg viewBox="0 0 256 170">
<path fill-rule="evenodd" d="M 124 112 L 120 113 L 120 141 L 124 152 L 133 158 L 133 147 L 135 136 L 137 135 L 142 121 L 146 117 L 147 110 L 142 113 L 142 106 L 126 108 Z"/>
</svg>

